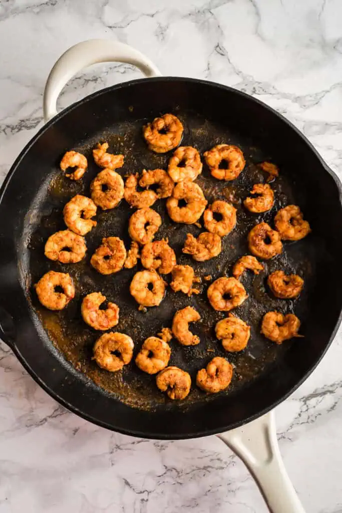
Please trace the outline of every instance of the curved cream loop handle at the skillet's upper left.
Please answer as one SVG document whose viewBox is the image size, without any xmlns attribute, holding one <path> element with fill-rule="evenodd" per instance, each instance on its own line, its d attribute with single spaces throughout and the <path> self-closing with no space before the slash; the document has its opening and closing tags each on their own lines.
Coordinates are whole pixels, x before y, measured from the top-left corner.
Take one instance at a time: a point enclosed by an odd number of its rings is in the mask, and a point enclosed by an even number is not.
<svg viewBox="0 0 342 513">
<path fill-rule="evenodd" d="M 59 57 L 50 71 L 43 98 L 45 122 L 57 114 L 57 98 L 70 78 L 87 66 L 105 62 L 132 64 L 146 76 L 160 76 L 154 64 L 131 46 L 105 39 L 83 41 L 72 46 Z"/>
</svg>

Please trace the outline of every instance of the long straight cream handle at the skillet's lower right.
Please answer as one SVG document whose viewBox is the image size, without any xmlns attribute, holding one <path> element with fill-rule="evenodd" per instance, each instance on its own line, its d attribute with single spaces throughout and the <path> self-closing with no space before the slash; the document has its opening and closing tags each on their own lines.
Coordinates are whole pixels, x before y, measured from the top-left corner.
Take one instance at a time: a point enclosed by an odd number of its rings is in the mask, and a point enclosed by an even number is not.
<svg viewBox="0 0 342 513">
<path fill-rule="evenodd" d="M 218 437 L 243 460 L 271 513 L 305 513 L 281 460 L 273 411 Z"/>
</svg>

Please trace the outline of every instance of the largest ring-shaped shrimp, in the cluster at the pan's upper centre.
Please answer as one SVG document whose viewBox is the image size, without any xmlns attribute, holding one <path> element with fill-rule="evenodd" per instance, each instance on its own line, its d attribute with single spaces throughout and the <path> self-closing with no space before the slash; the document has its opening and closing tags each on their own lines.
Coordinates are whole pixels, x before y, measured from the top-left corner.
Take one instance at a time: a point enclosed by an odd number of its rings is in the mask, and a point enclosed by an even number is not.
<svg viewBox="0 0 342 513">
<path fill-rule="evenodd" d="M 180 200 L 185 200 L 187 205 L 179 207 Z M 193 224 L 203 214 L 207 203 L 199 185 L 187 180 L 175 186 L 171 198 L 166 201 L 166 208 L 175 223 Z"/>
</svg>

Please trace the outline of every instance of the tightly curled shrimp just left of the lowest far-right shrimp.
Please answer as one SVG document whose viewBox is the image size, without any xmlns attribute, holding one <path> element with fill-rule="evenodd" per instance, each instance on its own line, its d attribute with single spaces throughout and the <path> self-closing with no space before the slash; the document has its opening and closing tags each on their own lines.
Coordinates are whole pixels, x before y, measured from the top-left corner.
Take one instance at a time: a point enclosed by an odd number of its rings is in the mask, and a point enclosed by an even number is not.
<svg viewBox="0 0 342 513">
<path fill-rule="evenodd" d="M 226 351 L 242 351 L 249 341 L 251 328 L 242 319 L 235 317 L 232 313 L 226 319 L 218 321 L 215 326 L 215 333 L 218 340 Z"/>
</svg>

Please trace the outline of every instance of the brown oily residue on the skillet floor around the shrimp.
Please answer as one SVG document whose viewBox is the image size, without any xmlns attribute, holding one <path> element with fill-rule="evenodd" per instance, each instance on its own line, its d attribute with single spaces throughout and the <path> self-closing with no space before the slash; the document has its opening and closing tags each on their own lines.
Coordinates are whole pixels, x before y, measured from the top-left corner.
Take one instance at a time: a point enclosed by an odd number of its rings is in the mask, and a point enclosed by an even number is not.
<svg viewBox="0 0 342 513">
<path fill-rule="evenodd" d="M 284 251 L 275 259 L 265 263 L 265 272 L 258 276 L 246 272 L 242 282 L 249 294 L 245 303 L 236 308 L 234 313 L 251 325 L 251 339 L 247 348 L 240 353 L 227 353 L 215 338 L 214 326 L 219 319 L 226 315 L 216 312 L 207 300 L 207 288 L 211 281 L 204 277 L 211 275 L 212 280 L 222 276 L 231 275 L 234 262 L 242 255 L 248 253 L 247 234 L 256 223 L 264 220 L 273 224 L 276 210 L 295 203 L 305 205 L 304 188 L 294 187 L 292 177 L 285 169 L 280 169 L 280 175 L 272 188 L 275 192 L 275 205 L 270 212 L 252 214 L 243 207 L 243 200 L 249 194 L 254 183 L 265 182 L 265 174 L 257 167 L 257 163 L 271 160 L 277 163 L 276 155 L 269 154 L 269 149 L 261 150 L 253 146 L 253 141 L 241 134 L 230 132 L 226 126 L 212 124 L 200 115 L 191 112 L 177 112 L 185 126 L 182 144 L 195 146 L 201 155 L 207 149 L 219 143 L 235 144 L 242 148 L 246 158 L 246 168 L 234 182 L 220 182 L 213 179 L 204 164 L 203 172 L 196 182 L 202 187 L 209 203 L 216 199 L 226 199 L 237 208 L 237 225 L 235 229 L 223 240 L 222 253 L 217 258 L 207 262 L 194 262 L 189 255 L 182 253 L 186 234 L 198 235 L 201 231 L 195 225 L 180 225 L 173 223 L 166 212 L 165 200 L 158 201 L 152 208 L 162 216 L 163 224 L 158 230 L 155 240 L 168 238 L 174 248 L 177 263 L 192 265 L 195 273 L 202 279 L 197 285 L 200 294 L 188 298 L 183 293 L 174 293 L 167 289 L 166 297 L 159 307 L 150 308 L 146 312 L 138 310 L 138 305 L 129 293 L 129 284 L 134 273 L 141 268 L 140 264 L 133 269 L 124 269 L 116 274 L 103 276 L 90 266 L 90 258 L 103 237 L 115 235 L 122 238 L 126 248 L 130 246 L 128 236 L 128 220 L 133 210 L 122 201 L 120 205 L 109 211 L 98 209 L 96 216 L 97 226 L 86 235 L 86 258 L 78 264 L 62 265 L 51 262 L 44 257 L 44 244 L 48 236 L 56 230 L 64 229 L 62 210 L 65 203 L 75 194 L 89 195 L 91 180 L 99 172 L 94 164 L 91 150 L 98 141 L 108 141 L 109 150 L 113 153 L 125 155 L 125 165 L 117 171 L 125 176 L 142 171 L 142 169 L 167 169 L 170 154 L 155 154 L 147 149 L 142 137 L 142 126 L 146 120 L 139 120 L 133 124 L 117 124 L 106 132 L 94 134 L 92 139 L 74 148 L 81 151 L 88 158 L 89 167 L 82 180 L 72 182 L 63 176 L 55 163 L 51 163 L 52 180 L 44 198 L 39 200 L 41 218 L 32 226 L 29 243 L 30 272 L 32 284 L 50 269 L 69 272 L 76 285 L 76 297 L 68 307 L 60 312 L 44 309 L 38 302 L 31 287 L 31 301 L 36 309 L 44 328 L 48 331 L 53 344 L 62 351 L 65 357 L 77 370 L 85 373 L 94 383 L 106 392 L 114 393 L 121 401 L 133 407 L 151 409 L 158 405 L 170 406 L 170 401 L 155 385 L 155 376 L 140 371 L 134 364 L 134 358 L 144 340 L 156 335 L 161 328 L 170 327 L 173 315 L 179 308 L 187 305 L 194 306 L 201 314 L 202 319 L 191 325 L 194 333 L 200 337 L 200 344 L 195 347 L 180 346 L 172 339 L 170 365 L 177 365 L 190 372 L 193 386 L 188 398 L 181 407 L 188 407 L 195 402 L 212 400 L 195 386 L 195 377 L 198 369 L 203 368 L 213 356 L 227 358 L 235 367 L 234 378 L 229 389 L 222 393 L 233 393 L 239 387 L 245 386 L 261 373 L 266 372 L 269 365 L 281 358 L 292 343 L 286 342 L 277 346 L 266 340 L 260 334 L 260 321 L 264 313 L 277 309 L 281 312 L 293 312 L 302 321 L 301 333 L 305 334 L 305 324 L 309 308 L 309 294 L 314 286 L 315 275 L 315 249 L 312 236 L 296 242 L 285 243 Z M 273 157 L 273 158 L 272 158 Z M 304 204 L 304 205 L 303 205 Z M 202 223 L 202 220 L 200 220 Z M 297 300 L 278 300 L 272 297 L 267 290 L 266 277 L 269 272 L 276 269 L 285 272 L 296 272 L 305 280 L 305 288 Z M 165 277 L 170 282 L 170 275 Z M 88 327 L 81 318 L 81 302 L 87 293 L 101 291 L 108 301 L 113 301 L 120 308 L 119 324 L 113 328 L 132 337 L 135 349 L 132 362 L 122 371 L 109 373 L 98 368 L 92 360 L 92 347 L 101 332 Z M 105 305 L 104 305 L 105 306 Z"/>
</svg>

